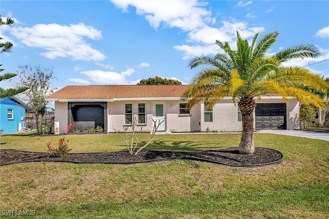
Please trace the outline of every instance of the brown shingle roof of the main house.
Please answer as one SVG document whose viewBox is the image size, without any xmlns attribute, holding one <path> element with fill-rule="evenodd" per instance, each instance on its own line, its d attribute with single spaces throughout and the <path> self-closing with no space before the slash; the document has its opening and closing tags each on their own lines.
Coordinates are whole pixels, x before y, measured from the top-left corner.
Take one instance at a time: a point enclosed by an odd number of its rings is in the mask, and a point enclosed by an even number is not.
<svg viewBox="0 0 329 219">
<path fill-rule="evenodd" d="M 189 85 L 66 86 L 46 99 L 88 100 L 114 98 L 179 98 Z"/>
</svg>

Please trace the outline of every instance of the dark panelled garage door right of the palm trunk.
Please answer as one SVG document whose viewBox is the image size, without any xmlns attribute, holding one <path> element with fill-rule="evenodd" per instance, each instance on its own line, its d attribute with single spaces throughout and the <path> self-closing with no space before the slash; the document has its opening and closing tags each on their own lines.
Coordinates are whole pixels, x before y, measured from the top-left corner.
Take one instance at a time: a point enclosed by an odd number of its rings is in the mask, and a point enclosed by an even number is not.
<svg viewBox="0 0 329 219">
<path fill-rule="evenodd" d="M 256 129 L 287 129 L 285 103 L 258 103 L 255 108 Z"/>
</svg>

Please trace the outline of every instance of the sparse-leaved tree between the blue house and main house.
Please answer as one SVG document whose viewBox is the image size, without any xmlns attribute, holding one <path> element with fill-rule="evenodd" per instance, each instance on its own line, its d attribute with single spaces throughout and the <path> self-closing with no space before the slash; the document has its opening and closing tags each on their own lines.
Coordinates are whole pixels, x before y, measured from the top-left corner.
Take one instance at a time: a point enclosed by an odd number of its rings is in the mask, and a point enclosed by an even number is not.
<svg viewBox="0 0 329 219">
<path fill-rule="evenodd" d="M 20 65 L 20 83 L 30 88 L 24 92 L 27 97 L 27 105 L 30 111 L 35 113 L 35 120 L 38 121 L 39 115 L 44 116 L 48 101 L 45 97 L 53 92 L 54 88 L 50 87 L 53 76 L 53 67 L 45 68 L 30 65 Z"/>
</svg>

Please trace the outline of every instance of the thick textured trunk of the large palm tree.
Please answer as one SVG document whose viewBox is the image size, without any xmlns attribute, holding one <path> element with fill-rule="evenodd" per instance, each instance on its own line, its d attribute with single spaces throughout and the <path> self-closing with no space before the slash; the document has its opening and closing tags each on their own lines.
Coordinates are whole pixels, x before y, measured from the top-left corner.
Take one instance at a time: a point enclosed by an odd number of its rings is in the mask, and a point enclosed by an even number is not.
<svg viewBox="0 0 329 219">
<path fill-rule="evenodd" d="M 240 154 L 252 154 L 255 150 L 253 135 L 253 109 L 256 103 L 252 98 L 245 98 L 239 102 L 242 114 L 242 136 L 239 144 Z"/>
</svg>

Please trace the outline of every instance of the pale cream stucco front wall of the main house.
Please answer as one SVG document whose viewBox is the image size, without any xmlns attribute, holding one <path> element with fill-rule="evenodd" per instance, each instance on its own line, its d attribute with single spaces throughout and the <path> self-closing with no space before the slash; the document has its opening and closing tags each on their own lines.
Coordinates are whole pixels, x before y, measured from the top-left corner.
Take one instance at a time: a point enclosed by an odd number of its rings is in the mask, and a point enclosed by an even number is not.
<svg viewBox="0 0 329 219">
<path fill-rule="evenodd" d="M 125 124 L 124 109 L 125 103 L 133 104 L 133 115 L 137 116 L 138 103 L 145 103 L 146 105 L 146 119 L 147 123 L 142 125 L 143 132 L 151 132 L 153 130 L 153 104 L 159 101 L 114 101 L 107 102 L 107 113 L 105 126 L 107 124 L 107 132 L 114 133 L 115 130 L 123 132 L 122 125 Z M 190 115 L 179 115 L 179 100 L 161 101 L 165 106 L 166 113 L 166 131 L 171 132 L 241 132 L 242 122 L 237 121 L 237 106 L 234 105 L 231 99 L 224 99 L 213 107 L 213 121 L 204 121 L 204 103 L 200 102 L 193 106 Z M 284 103 L 279 98 L 263 98 L 262 100 L 255 99 L 256 103 Z M 286 122 L 287 129 L 296 130 L 300 128 L 299 122 L 299 102 L 295 99 L 289 99 L 286 103 Z M 68 105 L 67 102 L 55 102 L 55 121 L 60 123 L 60 130 L 67 128 Z M 253 113 L 254 114 L 254 113 Z M 255 114 L 254 114 L 255 116 Z M 255 127 L 255 121 L 254 121 Z M 136 127 L 136 131 L 140 131 L 140 125 Z M 131 132 L 129 127 L 127 130 Z"/>
</svg>

